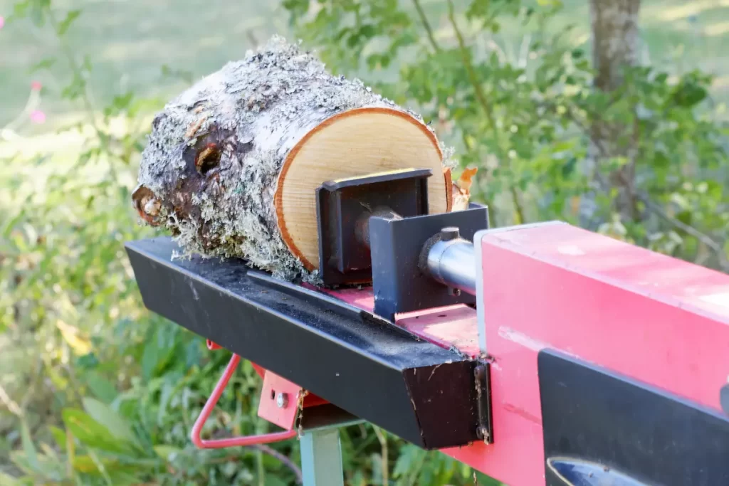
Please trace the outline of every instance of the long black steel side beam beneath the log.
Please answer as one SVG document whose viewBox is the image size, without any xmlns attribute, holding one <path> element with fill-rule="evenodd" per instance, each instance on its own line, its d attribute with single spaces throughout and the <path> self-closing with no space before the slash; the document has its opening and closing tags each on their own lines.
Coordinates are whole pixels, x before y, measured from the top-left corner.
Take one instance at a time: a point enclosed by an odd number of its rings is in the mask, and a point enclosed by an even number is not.
<svg viewBox="0 0 729 486">
<path fill-rule="evenodd" d="M 477 440 L 475 362 L 241 260 L 126 248 L 149 310 L 425 449 Z"/>
</svg>

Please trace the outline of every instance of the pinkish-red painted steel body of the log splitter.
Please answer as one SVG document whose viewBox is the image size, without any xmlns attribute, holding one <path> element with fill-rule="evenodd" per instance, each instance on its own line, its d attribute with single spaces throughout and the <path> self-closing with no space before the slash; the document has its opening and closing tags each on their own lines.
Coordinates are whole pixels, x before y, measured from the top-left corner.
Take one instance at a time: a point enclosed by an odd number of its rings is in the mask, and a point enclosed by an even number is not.
<svg viewBox="0 0 729 486">
<path fill-rule="evenodd" d="M 729 375 L 729 275 L 569 224 L 480 233 L 494 444 L 445 454 L 511 486 L 545 484 L 537 353 L 553 348 L 720 410 Z M 477 245 L 478 246 L 478 245 Z M 335 295 L 372 309 L 372 294 Z M 397 323 L 480 353 L 475 310 Z"/>
</svg>

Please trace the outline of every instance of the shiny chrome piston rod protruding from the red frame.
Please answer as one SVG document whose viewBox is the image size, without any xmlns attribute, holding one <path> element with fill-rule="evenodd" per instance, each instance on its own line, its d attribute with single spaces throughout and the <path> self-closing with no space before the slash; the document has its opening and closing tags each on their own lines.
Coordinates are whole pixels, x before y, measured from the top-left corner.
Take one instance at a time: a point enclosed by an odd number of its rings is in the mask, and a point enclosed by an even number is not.
<svg viewBox="0 0 729 486">
<path fill-rule="evenodd" d="M 476 294 L 473 243 L 461 238 L 458 228 L 443 228 L 439 235 L 426 243 L 424 257 L 421 259 L 421 267 L 435 281 L 467 294 Z"/>
</svg>

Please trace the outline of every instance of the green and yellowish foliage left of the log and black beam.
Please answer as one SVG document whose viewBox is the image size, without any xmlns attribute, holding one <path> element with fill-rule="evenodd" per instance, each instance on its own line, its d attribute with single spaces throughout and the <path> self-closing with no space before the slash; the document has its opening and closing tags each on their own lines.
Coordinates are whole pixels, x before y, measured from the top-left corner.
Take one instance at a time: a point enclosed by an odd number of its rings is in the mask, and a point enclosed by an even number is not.
<svg viewBox="0 0 729 486">
<path fill-rule="evenodd" d="M 123 243 L 152 235 L 129 200 L 149 114 L 163 101 L 129 90 L 97 109 L 87 87 L 92 60 L 65 35 L 81 12 L 37 0 L 14 12 L 12 21 L 31 20 L 58 39 L 58 52 L 34 70 L 63 65 L 68 77 L 44 90 L 86 117 L 58 133 L 74 148 L 28 156 L 19 144 L 2 160 L 0 391 L 10 414 L 0 408 L 0 450 L 12 451 L 12 462 L 0 453 L 0 484 L 291 484 L 294 471 L 260 450 L 190 444 L 227 356 L 209 356 L 198 337 L 147 313 L 139 298 Z M 265 431 L 258 381 L 243 367 L 206 435 Z M 297 453 L 296 444 L 276 447 Z"/>
</svg>

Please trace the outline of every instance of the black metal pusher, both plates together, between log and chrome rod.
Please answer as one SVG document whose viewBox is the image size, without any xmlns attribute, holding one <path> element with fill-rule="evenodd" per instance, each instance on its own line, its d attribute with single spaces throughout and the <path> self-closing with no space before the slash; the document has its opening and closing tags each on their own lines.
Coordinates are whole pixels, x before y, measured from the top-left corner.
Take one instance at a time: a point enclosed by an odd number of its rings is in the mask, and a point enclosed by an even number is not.
<svg viewBox="0 0 729 486">
<path fill-rule="evenodd" d="M 425 275 L 419 259 L 426 242 L 443 227 L 458 227 L 473 240 L 488 228 L 488 208 L 428 214 L 429 169 L 404 169 L 339 181 L 316 190 L 319 275 L 327 286 L 373 283 L 375 313 L 390 321 L 395 313 L 428 307 L 475 305 Z"/>
</svg>

